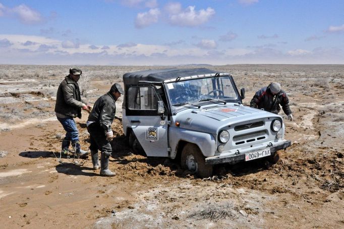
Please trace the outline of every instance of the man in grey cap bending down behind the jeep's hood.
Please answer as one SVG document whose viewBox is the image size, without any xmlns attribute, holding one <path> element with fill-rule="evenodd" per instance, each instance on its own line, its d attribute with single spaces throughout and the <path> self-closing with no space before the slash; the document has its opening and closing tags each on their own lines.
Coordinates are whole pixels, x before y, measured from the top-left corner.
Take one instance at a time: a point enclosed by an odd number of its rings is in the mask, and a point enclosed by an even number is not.
<svg viewBox="0 0 344 229">
<path fill-rule="evenodd" d="M 279 105 L 282 106 L 284 113 L 289 120 L 293 120 L 292 111 L 289 107 L 289 99 L 285 92 L 280 88 L 280 84 L 276 82 L 270 83 L 258 90 L 253 96 L 250 107 L 264 109 L 274 114 L 280 111 Z"/>
</svg>

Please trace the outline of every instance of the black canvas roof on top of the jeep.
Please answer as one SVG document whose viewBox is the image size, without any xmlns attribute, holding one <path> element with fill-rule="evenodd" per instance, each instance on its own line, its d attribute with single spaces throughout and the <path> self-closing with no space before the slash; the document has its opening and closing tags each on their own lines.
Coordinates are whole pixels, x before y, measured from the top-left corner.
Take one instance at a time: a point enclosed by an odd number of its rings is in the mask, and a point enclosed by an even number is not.
<svg viewBox="0 0 344 229">
<path fill-rule="evenodd" d="M 165 68 L 165 69 L 150 69 L 145 71 L 130 72 L 123 75 L 123 83 L 137 84 L 139 81 L 163 82 L 167 79 L 176 79 L 178 77 L 186 77 L 193 75 L 214 74 L 216 71 L 207 68 Z"/>
</svg>

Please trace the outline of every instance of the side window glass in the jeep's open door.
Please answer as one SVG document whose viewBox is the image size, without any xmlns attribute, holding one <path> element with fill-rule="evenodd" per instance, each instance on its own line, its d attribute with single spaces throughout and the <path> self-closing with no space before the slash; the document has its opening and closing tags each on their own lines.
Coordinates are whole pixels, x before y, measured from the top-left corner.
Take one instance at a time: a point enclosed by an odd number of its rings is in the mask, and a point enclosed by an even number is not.
<svg viewBox="0 0 344 229">
<path fill-rule="evenodd" d="M 128 108 L 130 110 L 156 110 L 158 98 L 153 87 L 130 87 Z"/>
</svg>

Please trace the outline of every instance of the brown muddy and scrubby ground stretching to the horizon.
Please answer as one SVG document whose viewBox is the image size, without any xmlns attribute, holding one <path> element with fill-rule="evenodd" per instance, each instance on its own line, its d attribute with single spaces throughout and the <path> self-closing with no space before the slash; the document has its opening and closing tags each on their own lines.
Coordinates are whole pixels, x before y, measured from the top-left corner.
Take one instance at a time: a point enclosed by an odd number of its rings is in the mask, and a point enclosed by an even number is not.
<svg viewBox="0 0 344 229">
<path fill-rule="evenodd" d="M 65 132 L 53 107 L 69 66 L 0 65 L 0 227 L 343 228 L 344 66 L 206 67 L 230 72 L 246 89 L 245 105 L 260 87 L 281 83 L 294 120 L 284 118 L 292 146 L 277 164 L 217 165 L 201 179 L 175 161 L 135 155 L 125 144 L 122 98 L 109 163 L 117 176 L 99 176 L 90 157 L 59 163 Z M 93 103 L 125 72 L 164 67 L 80 68 L 89 80 L 80 81 L 83 97 Z M 84 149 L 87 116 L 76 119 Z"/>
</svg>

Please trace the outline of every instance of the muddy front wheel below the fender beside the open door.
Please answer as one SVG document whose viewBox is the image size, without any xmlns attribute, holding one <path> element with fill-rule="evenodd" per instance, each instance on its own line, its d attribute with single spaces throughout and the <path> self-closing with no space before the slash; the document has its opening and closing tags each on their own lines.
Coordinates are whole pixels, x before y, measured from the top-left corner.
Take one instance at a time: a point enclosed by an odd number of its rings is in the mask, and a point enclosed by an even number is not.
<svg viewBox="0 0 344 229">
<path fill-rule="evenodd" d="M 188 143 L 185 145 L 181 156 L 181 165 L 202 178 L 212 175 L 213 166 L 205 164 L 205 158 L 201 150 L 195 144 Z"/>
</svg>

